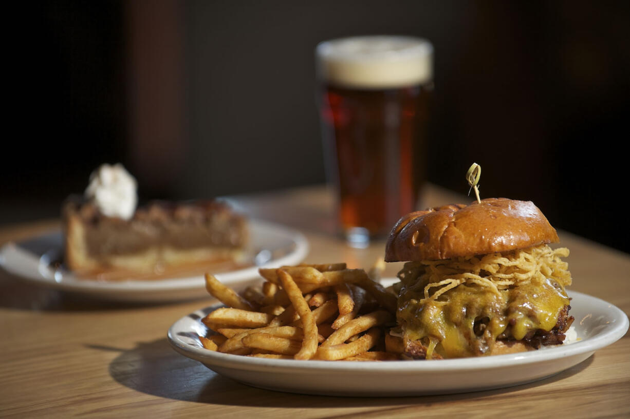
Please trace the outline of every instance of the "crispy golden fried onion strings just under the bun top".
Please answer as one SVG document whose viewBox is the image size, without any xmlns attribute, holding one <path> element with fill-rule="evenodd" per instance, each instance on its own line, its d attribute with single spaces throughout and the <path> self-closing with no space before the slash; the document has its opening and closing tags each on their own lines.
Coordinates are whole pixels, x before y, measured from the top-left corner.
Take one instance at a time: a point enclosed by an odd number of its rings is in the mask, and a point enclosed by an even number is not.
<svg viewBox="0 0 630 419">
<path fill-rule="evenodd" d="M 568 255 L 569 250 L 564 247 L 554 250 L 540 245 L 502 254 L 422 260 L 407 262 L 399 277 L 405 288 L 424 288 L 420 303 L 447 304 L 447 292 L 461 284 L 487 287 L 495 294 L 517 284 L 540 285 L 547 278 L 562 286 L 571 285 L 568 264 L 560 259 Z M 440 296 L 442 299 L 438 299 Z"/>
</svg>

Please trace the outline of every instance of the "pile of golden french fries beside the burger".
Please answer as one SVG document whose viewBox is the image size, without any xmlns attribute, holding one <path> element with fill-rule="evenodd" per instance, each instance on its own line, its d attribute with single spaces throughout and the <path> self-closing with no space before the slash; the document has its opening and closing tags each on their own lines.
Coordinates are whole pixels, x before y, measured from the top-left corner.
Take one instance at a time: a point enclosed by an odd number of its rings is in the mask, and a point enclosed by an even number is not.
<svg viewBox="0 0 630 419">
<path fill-rule="evenodd" d="M 206 288 L 226 308 L 202 319 L 203 347 L 226 354 L 275 359 L 397 360 L 401 339 L 389 334 L 396 296 L 370 269 L 314 264 L 260 269 L 259 288 L 241 294 L 206 274 Z"/>
</svg>

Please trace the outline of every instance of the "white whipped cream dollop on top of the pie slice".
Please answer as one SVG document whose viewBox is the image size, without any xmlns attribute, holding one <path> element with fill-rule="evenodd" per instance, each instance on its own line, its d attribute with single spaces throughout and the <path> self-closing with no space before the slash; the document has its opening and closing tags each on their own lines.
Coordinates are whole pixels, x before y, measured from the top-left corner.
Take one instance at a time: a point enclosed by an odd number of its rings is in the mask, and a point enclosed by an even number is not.
<svg viewBox="0 0 630 419">
<path fill-rule="evenodd" d="M 103 164 L 89 176 L 85 196 L 103 215 L 129 220 L 138 203 L 137 182 L 122 164 Z"/>
</svg>

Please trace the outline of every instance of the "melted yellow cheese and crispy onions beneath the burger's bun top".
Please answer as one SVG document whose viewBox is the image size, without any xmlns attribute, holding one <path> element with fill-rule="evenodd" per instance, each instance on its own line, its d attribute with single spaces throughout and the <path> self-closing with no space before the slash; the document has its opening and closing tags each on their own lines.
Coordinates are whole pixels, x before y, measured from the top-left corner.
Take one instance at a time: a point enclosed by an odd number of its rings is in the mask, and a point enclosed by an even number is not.
<svg viewBox="0 0 630 419">
<path fill-rule="evenodd" d="M 571 276 L 559 259 L 564 255 L 568 250 L 542 245 L 408 262 L 399 274 L 397 318 L 404 338 L 454 358 L 490 354 L 498 338 L 522 340 L 534 330 L 549 332 L 570 302 L 564 286 Z"/>
</svg>

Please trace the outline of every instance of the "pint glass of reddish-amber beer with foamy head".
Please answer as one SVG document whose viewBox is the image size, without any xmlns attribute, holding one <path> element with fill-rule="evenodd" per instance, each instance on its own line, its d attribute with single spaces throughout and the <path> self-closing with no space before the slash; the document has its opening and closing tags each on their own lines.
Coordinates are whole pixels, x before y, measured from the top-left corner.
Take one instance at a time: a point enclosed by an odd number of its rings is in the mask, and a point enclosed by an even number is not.
<svg viewBox="0 0 630 419">
<path fill-rule="evenodd" d="M 316 48 L 326 171 L 353 247 L 386 236 L 416 208 L 426 176 L 432 60 L 427 40 L 407 36 L 357 36 Z"/>
</svg>

